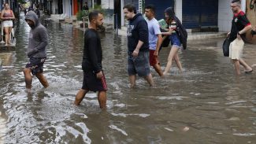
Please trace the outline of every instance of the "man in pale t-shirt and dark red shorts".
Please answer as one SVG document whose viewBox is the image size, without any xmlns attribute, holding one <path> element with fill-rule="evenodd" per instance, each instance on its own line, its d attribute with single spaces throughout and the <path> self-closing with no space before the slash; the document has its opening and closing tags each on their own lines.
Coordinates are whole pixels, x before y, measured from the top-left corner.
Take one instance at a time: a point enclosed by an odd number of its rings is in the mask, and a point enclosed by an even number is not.
<svg viewBox="0 0 256 144">
<path fill-rule="evenodd" d="M 145 15 L 147 17 L 147 26 L 150 44 L 150 65 L 158 72 L 159 76 L 163 76 L 160 63 L 158 61 L 158 53 L 162 42 L 160 25 L 158 20 L 154 18 L 155 8 L 153 5 L 145 7 Z"/>
</svg>

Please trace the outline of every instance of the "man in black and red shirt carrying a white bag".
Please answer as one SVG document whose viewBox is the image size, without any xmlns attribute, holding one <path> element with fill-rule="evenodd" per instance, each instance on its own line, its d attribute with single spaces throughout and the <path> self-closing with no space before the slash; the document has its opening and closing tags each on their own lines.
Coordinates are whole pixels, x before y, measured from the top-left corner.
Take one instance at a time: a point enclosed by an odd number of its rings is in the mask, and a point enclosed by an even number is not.
<svg viewBox="0 0 256 144">
<path fill-rule="evenodd" d="M 247 16 L 241 10 L 241 2 L 239 0 L 233 0 L 230 4 L 232 12 L 234 13 L 234 17 L 232 20 L 232 28 L 231 31 L 228 32 L 229 40 L 232 42 L 235 39 L 243 40 L 242 38 L 245 37 L 247 31 L 251 30 L 250 21 L 247 19 Z M 253 69 L 247 65 L 245 61 L 240 57 L 243 52 L 243 47 L 241 49 L 230 49 L 229 50 L 229 57 L 231 57 L 235 69 L 236 74 L 240 75 L 240 65 L 243 65 L 244 72 L 250 73 Z"/>
</svg>

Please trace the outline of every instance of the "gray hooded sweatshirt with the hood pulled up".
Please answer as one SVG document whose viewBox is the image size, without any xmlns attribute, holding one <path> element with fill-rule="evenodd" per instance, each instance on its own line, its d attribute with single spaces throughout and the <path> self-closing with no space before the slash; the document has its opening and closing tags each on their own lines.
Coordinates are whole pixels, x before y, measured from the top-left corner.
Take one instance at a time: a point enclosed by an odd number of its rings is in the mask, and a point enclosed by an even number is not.
<svg viewBox="0 0 256 144">
<path fill-rule="evenodd" d="M 32 20 L 34 22 L 34 26 L 29 32 L 28 57 L 46 57 L 46 46 L 48 44 L 46 28 L 40 24 L 37 15 L 33 11 L 29 11 L 26 14 L 25 20 Z"/>
</svg>

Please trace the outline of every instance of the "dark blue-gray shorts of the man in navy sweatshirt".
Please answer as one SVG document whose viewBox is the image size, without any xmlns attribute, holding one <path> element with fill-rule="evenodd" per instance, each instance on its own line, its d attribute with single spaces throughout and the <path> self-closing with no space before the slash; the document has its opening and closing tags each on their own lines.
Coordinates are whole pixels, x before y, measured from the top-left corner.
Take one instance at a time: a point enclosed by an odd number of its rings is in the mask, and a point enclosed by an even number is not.
<svg viewBox="0 0 256 144">
<path fill-rule="evenodd" d="M 132 52 L 128 52 L 128 75 L 148 76 L 150 75 L 149 52 L 139 52 L 138 57 L 133 57 Z"/>
</svg>

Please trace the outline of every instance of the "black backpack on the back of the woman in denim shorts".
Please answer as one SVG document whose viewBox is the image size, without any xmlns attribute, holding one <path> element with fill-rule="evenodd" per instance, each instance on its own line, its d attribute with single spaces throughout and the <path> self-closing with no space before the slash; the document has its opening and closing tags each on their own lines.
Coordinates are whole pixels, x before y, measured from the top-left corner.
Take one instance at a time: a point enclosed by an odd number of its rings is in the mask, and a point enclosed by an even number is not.
<svg viewBox="0 0 256 144">
<path fill-rule="evenodd" d="M 186 50 L 187 49 L 187 31 L 186 31 L 186 28 L 184 28 L 184 26 L 181 24 L 178 17 L 175 16 L 174 20 L 176 21 L 176 24 L 177 24 L 176 31 L 179 35 L 180 42 L 182 43 L 182 46 L 183 46 L 184 50 Z"/>
</svg>

